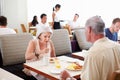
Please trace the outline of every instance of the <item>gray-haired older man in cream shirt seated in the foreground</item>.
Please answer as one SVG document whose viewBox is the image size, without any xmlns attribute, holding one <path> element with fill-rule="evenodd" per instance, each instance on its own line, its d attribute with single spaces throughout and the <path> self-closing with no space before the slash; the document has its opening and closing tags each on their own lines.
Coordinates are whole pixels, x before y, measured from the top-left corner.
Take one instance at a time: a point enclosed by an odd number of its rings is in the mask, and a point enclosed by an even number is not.
<svg viewBox="0 0 120 80">
<path fill-rule="evenodd" d="M 89 18 L 85 26 L 86 39 L 94 44 L 87 51 L 81 80 L 111 80 L 120 69 L 120 44 L 105 37 L 105 24 L 99 16 Z M 67 71 L 61 73 L 61 78 L 72 80 Z"/>
</svg>

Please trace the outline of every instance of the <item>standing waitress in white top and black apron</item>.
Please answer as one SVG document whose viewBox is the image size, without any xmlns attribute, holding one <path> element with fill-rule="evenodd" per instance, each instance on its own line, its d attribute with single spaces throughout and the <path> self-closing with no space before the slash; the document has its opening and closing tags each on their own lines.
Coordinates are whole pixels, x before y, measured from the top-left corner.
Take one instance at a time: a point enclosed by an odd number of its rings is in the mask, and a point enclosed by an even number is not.
<svg viewBox="0 0 120 80">
<path fill-rule="evenodd" d="M 53 13 L 52 13 L 52 19 L 53 19 L 53 29 L 60 29 L 60 10 L 61 5 L 60 4 L 56 4 L 55 5 L 55 9 L 53 8 Z"/>
</svg>

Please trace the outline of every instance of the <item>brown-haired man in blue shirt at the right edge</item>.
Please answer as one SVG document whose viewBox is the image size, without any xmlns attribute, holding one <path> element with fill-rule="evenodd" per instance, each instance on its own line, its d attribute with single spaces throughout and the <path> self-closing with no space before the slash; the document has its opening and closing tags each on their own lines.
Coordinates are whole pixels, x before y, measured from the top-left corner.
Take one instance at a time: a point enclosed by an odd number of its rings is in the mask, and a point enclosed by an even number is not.
<svg viewBox="0 0 120 80">
<path fill-rule="evenodd" d="M 120 18 L 115 18 L 112 21 L 110 28 L 105 29 L 105 35 L 110 40 L 118 41 L 118 31 L 120 30 Z"/>
</svg>

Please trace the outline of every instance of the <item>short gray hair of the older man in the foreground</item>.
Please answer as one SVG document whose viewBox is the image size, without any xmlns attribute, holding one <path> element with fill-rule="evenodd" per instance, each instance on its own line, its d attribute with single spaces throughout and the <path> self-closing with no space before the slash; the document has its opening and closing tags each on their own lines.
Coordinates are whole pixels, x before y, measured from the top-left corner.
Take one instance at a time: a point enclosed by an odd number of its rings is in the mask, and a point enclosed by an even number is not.
<svg viewBox="0 0 120 80">
<path fill-rule="evenodd" d="M 93 16 L 89 18 L 85 26 L 91 27 L 95 34 L 104 34 L 105 23 L 100 16 Z"/>
</svg>

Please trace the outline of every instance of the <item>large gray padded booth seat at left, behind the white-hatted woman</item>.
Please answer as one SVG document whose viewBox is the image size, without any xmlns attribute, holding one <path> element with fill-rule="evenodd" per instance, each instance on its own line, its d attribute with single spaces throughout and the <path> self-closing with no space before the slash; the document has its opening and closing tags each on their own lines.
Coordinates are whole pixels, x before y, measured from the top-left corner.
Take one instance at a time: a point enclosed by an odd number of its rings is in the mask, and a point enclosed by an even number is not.
<svg viewBox="0 0 120 80">
<path fill-rule="evenodd" d="M 30 33 L 0 35 L 0 67 L 24 80 L 36 80 L 22 71 L 25 52 L 31 39 L 33 36 Z"/>
</svg>

